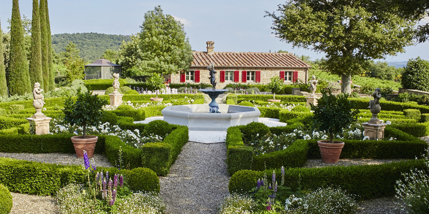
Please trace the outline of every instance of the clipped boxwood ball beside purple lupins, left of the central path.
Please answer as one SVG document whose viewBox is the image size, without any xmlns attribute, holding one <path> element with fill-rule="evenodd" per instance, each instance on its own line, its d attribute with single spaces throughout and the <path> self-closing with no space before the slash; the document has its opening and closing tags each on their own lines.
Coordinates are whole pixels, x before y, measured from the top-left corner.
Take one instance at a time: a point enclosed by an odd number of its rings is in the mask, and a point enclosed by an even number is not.
<svg viewBox="0 0 429 214">
<path fill-rule="evenodd" d="M 134 168 L 127 173 L 127 185 L 132 191 L 160 192 L 160 180 L 157 174 L 148 168 Z"/>
</svg>

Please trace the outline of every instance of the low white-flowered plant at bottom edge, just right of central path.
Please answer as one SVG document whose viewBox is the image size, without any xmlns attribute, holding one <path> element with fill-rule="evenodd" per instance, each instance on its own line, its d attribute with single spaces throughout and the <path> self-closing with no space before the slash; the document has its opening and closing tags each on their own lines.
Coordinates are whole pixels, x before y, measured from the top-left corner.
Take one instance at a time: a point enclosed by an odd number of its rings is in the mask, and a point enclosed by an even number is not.
<svg viewBox="0 0 429 214">
<path fill-rule="evenodd" d="M 257 211 L 258 204 L 254 199 L 241 194 L 232 194 L 221 202 L 219 214 L 251 214 Z"/>
</svg>

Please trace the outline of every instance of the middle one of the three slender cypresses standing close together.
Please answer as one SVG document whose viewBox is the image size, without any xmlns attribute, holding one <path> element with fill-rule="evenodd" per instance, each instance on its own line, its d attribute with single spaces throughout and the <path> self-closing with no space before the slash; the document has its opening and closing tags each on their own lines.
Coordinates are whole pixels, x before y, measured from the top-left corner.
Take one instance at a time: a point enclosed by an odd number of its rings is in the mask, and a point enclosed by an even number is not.
<svg viewBox="0 0 429 214">
<path fill-rule="evenodd" d="M 46 6 L 45 1 L 40 0 L 40 43 L 42 44 L 42 74 L 43 90 L 49 91 L 49 56 L 48 56 L 48 30 L 46 29 Z"/>
</svg>

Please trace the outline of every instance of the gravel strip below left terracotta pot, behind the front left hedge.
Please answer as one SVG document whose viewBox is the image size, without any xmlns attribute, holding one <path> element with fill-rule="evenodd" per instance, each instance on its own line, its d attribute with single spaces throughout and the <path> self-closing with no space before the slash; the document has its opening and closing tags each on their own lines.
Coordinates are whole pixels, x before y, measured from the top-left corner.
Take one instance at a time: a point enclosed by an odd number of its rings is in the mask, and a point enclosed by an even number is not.
<svg viewBox="0 0 429 214">
<path fill-rule="evenodd" d="M 0 152 L 1 158 L 15 158 L 18 160 L 30 160 L 37 161 L 41 163 L 59 163 L 62 165 L 82 165 L 84 164 L 83 158 L 76 158 L 74 153 L 41 153 L 41 154 L 32 154 L 32 153 L 8 153 Z M 95 163 L 96 166 L 103 167 L 114 167 L 110 163 L 106 155 L 103 154 L 94 154 L 90 158 L 91 163 Z"/>
</svg>

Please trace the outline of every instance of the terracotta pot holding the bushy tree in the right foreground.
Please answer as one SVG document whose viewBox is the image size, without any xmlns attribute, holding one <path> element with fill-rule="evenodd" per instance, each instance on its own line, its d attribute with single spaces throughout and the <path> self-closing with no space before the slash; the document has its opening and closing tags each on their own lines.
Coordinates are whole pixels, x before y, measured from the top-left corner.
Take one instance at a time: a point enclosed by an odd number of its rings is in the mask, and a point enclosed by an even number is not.
<svg viewBox="0 0 429 214">
<path fill-rule="evenodd" d="M 340 159 L 341 150 L 344 147 L 344 142 L 333 140 L 329 143 L 329 140 L 319 140 L 320 156 L 322 161 L 325 163 L 337 163 Z"/>
</svg>

